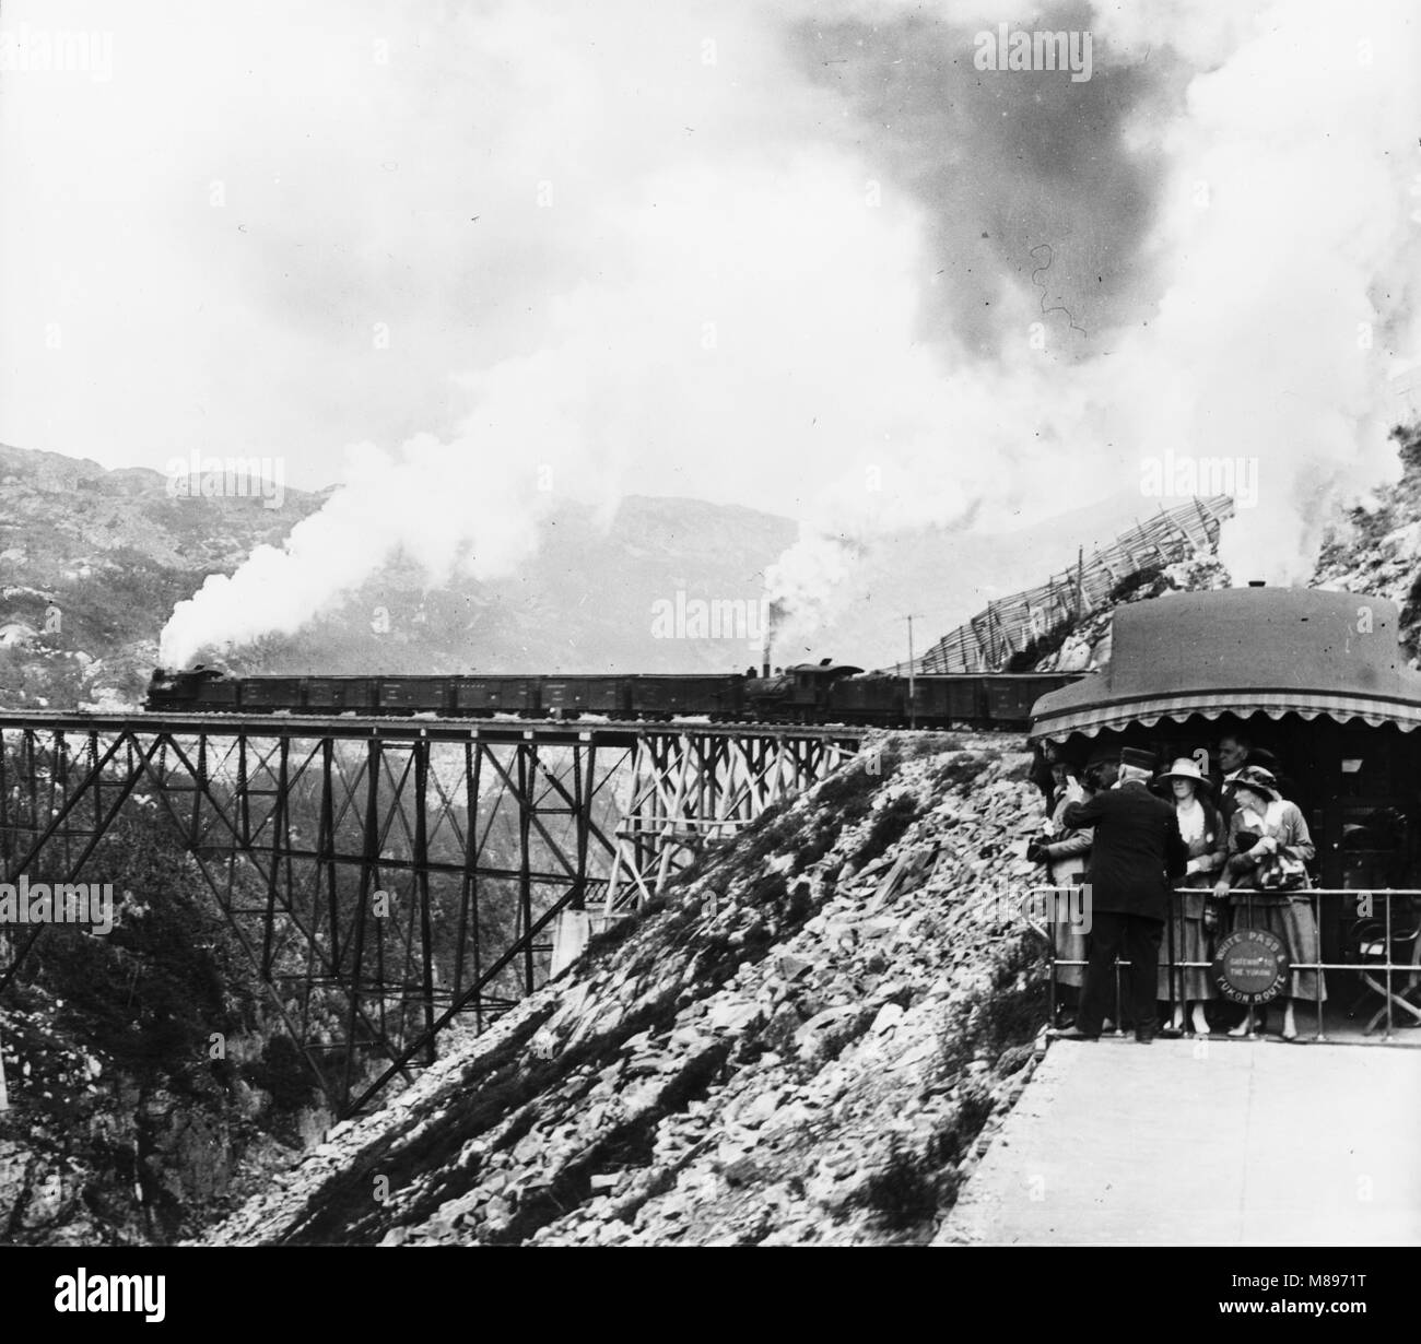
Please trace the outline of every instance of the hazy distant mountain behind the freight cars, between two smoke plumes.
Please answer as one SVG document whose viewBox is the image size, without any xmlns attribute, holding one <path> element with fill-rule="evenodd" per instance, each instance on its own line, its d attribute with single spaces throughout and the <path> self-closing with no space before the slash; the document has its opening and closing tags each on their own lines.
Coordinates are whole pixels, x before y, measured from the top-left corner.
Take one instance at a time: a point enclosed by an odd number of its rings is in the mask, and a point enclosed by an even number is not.
<svg viewBox="0 0 1421 1344">
<path fill-rule="evenodd" d="M 793 538 L 787 519 L 729 504 L 631 496 L 603 524 L 591 509 L 564 503 L 516 575 L 432 585 L 396 558 L 338 609 L 230 663 L 264 672 L 742 672 L 760 661 L 764 570 Z M 710 604 L 725 619 L 706 619 L 702 631 L 691 617 Z"/>
</svg>

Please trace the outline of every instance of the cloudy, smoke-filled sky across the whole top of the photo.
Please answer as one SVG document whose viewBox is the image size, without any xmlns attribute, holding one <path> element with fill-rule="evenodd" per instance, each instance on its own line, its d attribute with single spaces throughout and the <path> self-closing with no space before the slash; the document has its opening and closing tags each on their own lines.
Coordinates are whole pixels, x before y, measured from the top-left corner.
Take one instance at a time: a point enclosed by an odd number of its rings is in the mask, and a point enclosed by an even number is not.
<svg viewBox="0 0 1421 1344">
<path fill-rule="evenodd" d="M 1000 23 L 1091 33 L 1090 78 L 976 68 Z M 1256 455 L 1250 531 L 1293 556 L 1309 500 L 1385 470 L 1418 357 L 1401 0 L 4 0 L 0 28 L 0 442 L 442 494 L 489 571 L 539 469 L 797 517 L 813 585 L 824 538 L 1029 521 L 1165 449 Z M 94 68 L 33 68 L 75 33 Z"/>
</svg>

